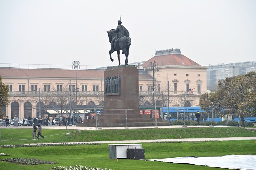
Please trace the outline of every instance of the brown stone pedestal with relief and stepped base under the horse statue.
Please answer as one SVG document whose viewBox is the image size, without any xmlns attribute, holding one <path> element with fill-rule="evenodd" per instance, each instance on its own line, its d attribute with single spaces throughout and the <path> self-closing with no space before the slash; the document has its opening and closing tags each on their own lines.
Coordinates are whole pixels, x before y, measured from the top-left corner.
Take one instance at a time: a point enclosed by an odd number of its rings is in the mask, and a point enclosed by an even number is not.
<svg viewBox="0 0 256 170">
<path fill-rule="evenodd" d="M 104 81 L 103 114 L 96 119 L 84 119 L 84 123 L 77 123 L 77 126 L 128 128 L 154 126 L 156 121 L 158 125 L 170 125 L 162 119 L 152 119 L 149 114 L 140 114 L 139 70 L 135 65 L 107 67 Z"/>
</svg>

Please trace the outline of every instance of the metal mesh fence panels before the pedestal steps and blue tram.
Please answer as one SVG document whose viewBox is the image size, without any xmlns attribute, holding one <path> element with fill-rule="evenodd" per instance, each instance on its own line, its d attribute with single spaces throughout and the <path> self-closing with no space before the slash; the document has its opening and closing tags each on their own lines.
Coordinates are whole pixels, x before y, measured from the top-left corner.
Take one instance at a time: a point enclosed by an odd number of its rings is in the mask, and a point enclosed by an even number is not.
<svg viewBox="0 0 256 170">
<path fill-rule="evenodd" d="M 161 109 L 148 110 L 97 110 L 93 118 L 84 118 L 77 126 L 88 127 L 140 127 L 171 125 L 203 125 L 203 126 L 253 126 L 256 115 L 241 110 L 199 109 L 200 117 L 196 117 L 197 109 L 183 109 L 163 113 Z"/>
</svg>

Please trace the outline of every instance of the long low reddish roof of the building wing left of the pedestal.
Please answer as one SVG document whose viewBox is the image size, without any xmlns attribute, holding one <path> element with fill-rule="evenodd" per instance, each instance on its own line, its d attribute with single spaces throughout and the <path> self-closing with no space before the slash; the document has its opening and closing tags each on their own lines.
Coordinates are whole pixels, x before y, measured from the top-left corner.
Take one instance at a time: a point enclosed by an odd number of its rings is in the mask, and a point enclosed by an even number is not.
<svg viewBox="0 0 256 170">
<path fill-rule="evenodd" d="M 103 70 L 74 70 L 74 69 L 21 69 L 0 68 L 2 77 L 33 77 L 33 78 L 104 78 Z"/>
</svg>

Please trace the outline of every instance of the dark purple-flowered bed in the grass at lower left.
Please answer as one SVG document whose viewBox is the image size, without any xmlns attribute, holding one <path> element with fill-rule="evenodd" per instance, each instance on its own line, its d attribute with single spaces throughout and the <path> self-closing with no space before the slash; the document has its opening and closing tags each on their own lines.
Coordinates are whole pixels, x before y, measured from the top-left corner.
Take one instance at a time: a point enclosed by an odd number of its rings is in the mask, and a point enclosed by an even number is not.
<svg viewBox="0 0 256 170">
<path fill-rule="evenodd" d="M 1 161 L 24 164 L 24 165 L 57 164 L 54 161 L 45 161 L 45 160 L 28 159 L 28 158 L 6 158 L 6 159 L 1 159 Z"/>
</svg>

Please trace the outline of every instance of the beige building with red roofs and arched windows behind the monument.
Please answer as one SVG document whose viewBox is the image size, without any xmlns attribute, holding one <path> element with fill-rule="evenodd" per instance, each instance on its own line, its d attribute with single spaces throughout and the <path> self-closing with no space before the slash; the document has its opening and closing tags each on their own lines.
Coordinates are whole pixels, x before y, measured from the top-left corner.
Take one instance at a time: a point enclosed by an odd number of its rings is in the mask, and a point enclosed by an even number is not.
<svg viewBox="0 0 256 170">
<path fill-rule="evenodd" d="M 149 63 L 158 63 L 154 68 L 154 83 Z M 206 92 L 207 67 L 185 57 L 180 49 L 156 51 L 138 69 L 140 106 L 153 106 L 155 101 L 156 106 L 167 107 L 168 81 L 169 107 L 198 106 L 199 95 Z M 2 82 L 9 86 L 10 104 L 1 109 L 9 118 L 39 117 L 39 114 L 52 114 L 51 110 L 69 113 L 70 98 L 72 110 L 104 105 L 103 70 L 0 68 L 0 75 Z"/>
</svg>

